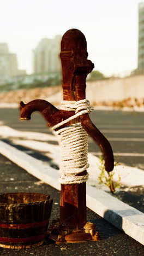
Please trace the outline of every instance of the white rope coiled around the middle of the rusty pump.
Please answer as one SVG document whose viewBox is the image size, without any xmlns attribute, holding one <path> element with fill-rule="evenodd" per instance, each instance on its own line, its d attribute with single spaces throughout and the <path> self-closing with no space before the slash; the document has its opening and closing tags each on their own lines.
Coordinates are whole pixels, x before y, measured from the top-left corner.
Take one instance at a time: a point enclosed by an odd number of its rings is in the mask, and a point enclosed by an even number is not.
<svg viewBox="0 0 144 256">
<path fill-rule="evenodd" d="M 63 110 L 75 111 L 75 115 L 62 121 L 52 127 L 53 130 L 61 127 L 69 121 L 80 117 L 80 115 L 91 113 L 93 108 L 90 107 L 88 100 L 81 101 L 62 101 Z M 83 183 L 88 179 L 88 173 L 85 176 L 76 176 L 85 171 L 89 164 L 87 162 L 88 153 L 88 135 L 83 129 L 81 123 L 73 124 L 56 131 L 61 136 L 61 178 L 62 184 Z"/>
</svg>

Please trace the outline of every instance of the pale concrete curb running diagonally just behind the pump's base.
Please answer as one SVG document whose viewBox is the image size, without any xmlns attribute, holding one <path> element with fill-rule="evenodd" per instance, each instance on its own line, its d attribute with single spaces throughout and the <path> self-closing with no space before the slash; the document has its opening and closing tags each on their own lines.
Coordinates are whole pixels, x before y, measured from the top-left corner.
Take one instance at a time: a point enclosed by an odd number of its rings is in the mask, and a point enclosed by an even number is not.
<svg viewBox="0 0 144 256">
<path fill-rule="evenodd" d="M 0 153 L 41 181 L 53 188 L 61 189 L 58 182 L 58 171 L 45 165 L 42 161 L 5 142 L 0 142 Z M 119 201 L 105 191 L 89 185 L 87 185 L 87 207 L 144 245 L 144 214 L 142 212 Z"/>
</svg>

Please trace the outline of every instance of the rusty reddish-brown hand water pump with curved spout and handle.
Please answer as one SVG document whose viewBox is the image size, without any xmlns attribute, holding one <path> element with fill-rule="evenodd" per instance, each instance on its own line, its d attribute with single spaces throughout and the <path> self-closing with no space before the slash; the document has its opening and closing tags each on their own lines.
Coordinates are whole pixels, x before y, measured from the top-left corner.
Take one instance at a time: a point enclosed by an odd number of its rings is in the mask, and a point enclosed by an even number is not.
<svg viewBox="0 0 144 256">
<path fill-rule="evenodd" d="M 76 29 L 68 30 L 62 37 L 61 61 L 63 74 L 63 100 L 80 101 L 86 98 L 86 77 L 94 68 L 94 64 L 87 60 L 87 42 L 83 33 Z M 31 119 L 31 114 L 39 110 L 48 122 L 48 126 L 55 126 L 61 121 L 72 117 L 75 112 L 59 110 L 44 100 L 34 100 L 27 104 L 21 102 L 21 119 Z M 88 114 L 69 121 L 63 127 L 81 123 L 83 129 L 99 145 L 105 159 L 107 172 L 113 170 L 113 153 L 109 141 L 95 127 Z M 86 176 L 84 170 L 77 176 Z M 86 218 L 86 182 L 79 184 L 61 184 L 60 220 L 53 221 L 51 237 L 56 236 L 57 243 L 82 242 L 99 240 L 95 225 L 87 223 Z"/>
</svg>

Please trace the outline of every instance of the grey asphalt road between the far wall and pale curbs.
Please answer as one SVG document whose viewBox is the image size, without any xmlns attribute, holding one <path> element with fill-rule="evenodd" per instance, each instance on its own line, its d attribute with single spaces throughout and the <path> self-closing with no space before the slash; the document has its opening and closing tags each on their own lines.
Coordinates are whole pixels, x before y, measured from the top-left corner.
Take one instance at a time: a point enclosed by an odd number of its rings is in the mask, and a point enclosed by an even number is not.
<svg viewBox="0 0 144 256">
<path fill-rule="evenodd" d="M 129 166 L 144 170 L 144 113 L 95 110 L 91 119 L 98 129 L 109 139 L 115 160 Z M 46 121 L 39 112 L 32 114 L 32 119 L 26 122 L 19 120 L 18 109 L 0 109 L 0 120 L 4 125 L 21 131 L 51 133 Z M 95 155 L 100 149 L 89 138 L 89 152 Z"/>
</svg>

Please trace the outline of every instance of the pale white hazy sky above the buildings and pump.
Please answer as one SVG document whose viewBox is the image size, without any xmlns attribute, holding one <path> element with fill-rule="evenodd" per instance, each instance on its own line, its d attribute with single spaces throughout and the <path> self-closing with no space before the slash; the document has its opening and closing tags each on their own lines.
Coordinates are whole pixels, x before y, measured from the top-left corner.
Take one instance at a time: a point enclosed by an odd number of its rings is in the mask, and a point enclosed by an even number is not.
<svg viewBox="0 0 144 256">
<path fill-rule="evenodd" d="M 89 59 L 106 75 L 137 67 L 139 0 L 0 0 L 0 42 L 32 72 L 32 49 L 41 38 L 70 28 L 87 39 Z"/>
</svg>

